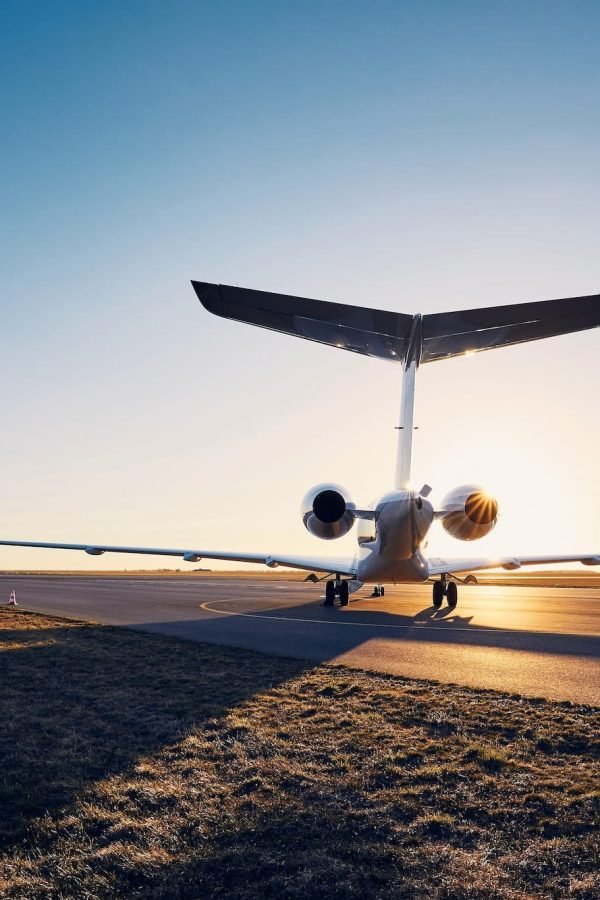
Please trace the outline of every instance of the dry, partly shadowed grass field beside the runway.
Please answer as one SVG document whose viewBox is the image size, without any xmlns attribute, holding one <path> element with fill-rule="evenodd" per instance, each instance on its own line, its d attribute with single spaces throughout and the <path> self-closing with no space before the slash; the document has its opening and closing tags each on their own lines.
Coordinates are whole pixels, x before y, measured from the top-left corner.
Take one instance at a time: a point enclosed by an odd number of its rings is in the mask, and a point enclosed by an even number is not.
<svg viewBox="0 0 600 900">
<path fill-rule="evenodd" d="M 0 895 L 600 896 L 599 710 L 0 610 Z"/>
</svg>

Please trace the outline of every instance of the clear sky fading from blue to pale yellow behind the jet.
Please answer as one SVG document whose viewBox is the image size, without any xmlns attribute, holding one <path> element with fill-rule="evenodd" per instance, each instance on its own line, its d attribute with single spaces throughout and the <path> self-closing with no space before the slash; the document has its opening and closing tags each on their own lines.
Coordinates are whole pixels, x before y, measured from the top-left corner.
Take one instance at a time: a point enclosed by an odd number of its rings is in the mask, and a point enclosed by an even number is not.
<svg viewBox="0 0 600 900">
<path fill-rule="evenodd" d="M 351 550 L 298 503 L 389 487 L 397 370 L 210 317 L 189 279 L 405 312 L 598 292 L 599 39 L 578 0 L 4 0 L 0 532 Z M 497 491 L 482 552 L 598 551 L 599 384 L 598 331 L 426 367 L 415 480 Z"/>
</svg>

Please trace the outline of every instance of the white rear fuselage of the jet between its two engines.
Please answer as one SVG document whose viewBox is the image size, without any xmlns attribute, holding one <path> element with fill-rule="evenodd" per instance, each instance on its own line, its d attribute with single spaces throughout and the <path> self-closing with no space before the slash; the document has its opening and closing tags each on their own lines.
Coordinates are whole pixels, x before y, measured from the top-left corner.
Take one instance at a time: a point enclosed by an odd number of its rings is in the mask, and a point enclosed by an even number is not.
<svg viewBox="0 0 600 900">
<path fill-rule="evenodd" d="M 357 579 L 379 582 L 421 582 L 429 577 L 421 546 L 431 523 L 433 506 L 414 491 L 384 494 L 374 520 L 358 525 Z"/>
</svg>

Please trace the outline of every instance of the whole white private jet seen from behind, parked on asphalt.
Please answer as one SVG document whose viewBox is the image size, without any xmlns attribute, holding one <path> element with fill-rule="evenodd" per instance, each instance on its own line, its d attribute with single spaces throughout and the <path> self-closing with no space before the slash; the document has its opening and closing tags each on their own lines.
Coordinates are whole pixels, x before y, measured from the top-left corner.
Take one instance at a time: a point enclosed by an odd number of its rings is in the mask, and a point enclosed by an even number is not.
<svg viewBox="0 0 600 900">
<path fill-rule="evenodd" d="M 312 300 L 248 288 L 192 281 L 202 306 L 238 322 L 283 332 L 366 356 L 397 363 L 402 372 L 400 419 L 394 487 L 368 507 L 357 505 L 338 484 L 319 484 L 304 497 L 302 521 L 322 540 L 335 540 L 357 524 L 357 550 L 352 557 L 290 556 L 207 549 L 122 547 L 110 544 L 68 544 L 1 540 L 0 545 L 80 550 L 91 556 L 134 553 L 180 557 L 196 563 L 222 559 L 262 563 L 271 568 L 308 570 L 325 581 L 325 605 L 348 605 L 349 594 L 373 585 L 384 596 L 386 584 L 421 583 L 433 579 L 433 605 L 446 598 L 455 607 L 457 582 L 486 569 L 520 569 L 579 562 L 600 565 L 600 553 L 567 556 L 502 556 L 497 558 L 427 557 L 426 538 L 436 519 L 460 541 L 489 534 L 498 519 L 498 501 L 476 484 L 451 490 L 439 507 L 429 500 L 431 488 L 410 486 L 414 431 L 415 382 L 419 366 L 480 353 L 499 347 L 555 337 L 600 326 L 600 294 L 481 307 L 458 312 L 407 315 L 324 300 Z M 317 577 L 315 575 L 315 577 Z"/>
</svg>

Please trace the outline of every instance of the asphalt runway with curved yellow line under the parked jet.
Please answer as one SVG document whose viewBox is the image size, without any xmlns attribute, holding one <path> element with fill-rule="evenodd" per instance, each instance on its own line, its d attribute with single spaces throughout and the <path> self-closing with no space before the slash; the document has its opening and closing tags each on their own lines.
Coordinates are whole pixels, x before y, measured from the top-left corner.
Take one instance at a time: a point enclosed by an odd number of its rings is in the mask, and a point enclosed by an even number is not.
<svg viewBox="0 0 600 900">
<path fill-rule="evenodd" d="M 321 587 L 253 578 L 0 576 L 0 601 L 108 625 L 318 662 L 600 705 L 600 590 L 461 586 L 365 589 L 345 609 Z"/>
</svg>

